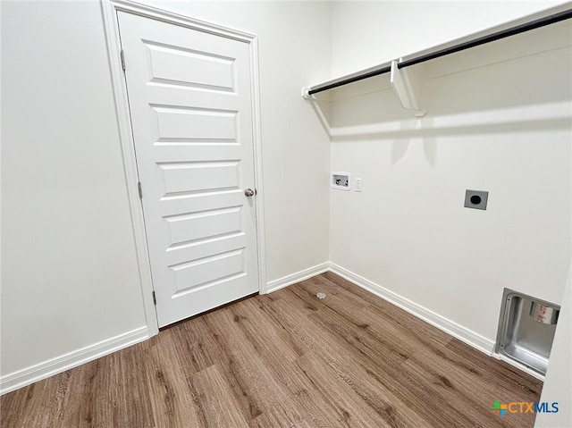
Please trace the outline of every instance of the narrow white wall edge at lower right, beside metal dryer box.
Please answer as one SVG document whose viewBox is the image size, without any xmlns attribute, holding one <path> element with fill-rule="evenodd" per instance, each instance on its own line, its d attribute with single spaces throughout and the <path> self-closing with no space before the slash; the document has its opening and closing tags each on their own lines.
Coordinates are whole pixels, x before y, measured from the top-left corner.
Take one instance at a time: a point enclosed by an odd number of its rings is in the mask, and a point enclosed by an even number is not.
<svg viewBox="0 0 572 428">
<path fill-rule="evenodd" d="M 551 360 L 546 372 L 541 402 L 559 403 L 558 413 L 536 415 L 536 428 L 568 428 L 572 426 L 572 286 L 568 284 L 562 299 L 562 307 L 551 350 Z"/>
</svg>

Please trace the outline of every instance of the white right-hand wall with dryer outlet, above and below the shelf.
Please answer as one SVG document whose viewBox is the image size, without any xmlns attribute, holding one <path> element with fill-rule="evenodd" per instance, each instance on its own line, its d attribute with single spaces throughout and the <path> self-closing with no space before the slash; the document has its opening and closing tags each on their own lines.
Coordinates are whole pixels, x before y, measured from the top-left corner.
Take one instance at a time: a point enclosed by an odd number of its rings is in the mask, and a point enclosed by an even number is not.
<svg viewBox="0 0 572 428">
<path fill-rule="evenodd" d="M 520 5 L 512 13 L 531 7 Z M 444 16 L 468 13 L 483 23 L 508 7 L 418 6 L 335 4 L 334 74 L 433 43 L 425 21 L 440 29 Z M 390 21 L 400 25 L 386 29 Z M 332 171 L 364 189 L 331 191 L 332 262 L 489 351 L 503 288 L 559 304 L 570 264 L 569 45 L 563 23 L 435 60 L 421 119 L 401 109 L 387 76 L 376 92 L 332 103 Z M 465 189 L 488 190 L 487 211 L 464 208 Z"/>
</svg>

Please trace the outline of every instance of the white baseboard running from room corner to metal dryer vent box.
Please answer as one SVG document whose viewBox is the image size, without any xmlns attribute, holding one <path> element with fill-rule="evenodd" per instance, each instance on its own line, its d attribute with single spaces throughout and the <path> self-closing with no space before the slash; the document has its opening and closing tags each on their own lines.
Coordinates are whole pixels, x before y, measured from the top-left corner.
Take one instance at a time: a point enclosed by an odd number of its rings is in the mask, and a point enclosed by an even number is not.
<svg viewBox="0 0 572 428">
<path fill-rule="evenodd" d="M 449 319 L 442 315 L 435 314 L 433 311 L 427 309 L 424 306 L 417 305 L 408 298 L 403 298 L 399 294 L 393 291 L 383 288 L 372 281 L 366 280 L 356 273 L 350 272 L 343 267 L 330 263 L 330 271 L 348 281 L 353 282 L 362 289 L 372 292 L 374 295 L 387 300 L 391 304 L 400 307 L 401 309 L 407 311 L 411 315 L 415 315 L 417 318 L 422 319 L 425 323 L 430 323 L 434 327 L 449 333 L 454 338 L 467 343 L 467 345 L 484 352 L 488 356 L 492 356 L 492 351 L 494 348 L 494 342 L 488 340 L 475 333 L 475 331 L 470 331 L 467 328 L 459 325 L 458 323 L 453 323 Z"/>
</svg>

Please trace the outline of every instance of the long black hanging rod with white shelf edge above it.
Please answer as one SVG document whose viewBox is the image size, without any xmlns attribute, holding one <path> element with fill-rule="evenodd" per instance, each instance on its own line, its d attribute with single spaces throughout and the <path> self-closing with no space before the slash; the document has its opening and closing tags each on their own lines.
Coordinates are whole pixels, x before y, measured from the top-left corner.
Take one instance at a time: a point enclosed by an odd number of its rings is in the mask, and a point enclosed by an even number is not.
<svg viewBox="0 0 572 428">
<path fill-rule="evenodd" d="M 404 67 L 409 67 L 410 65 L 415 65 L 417 63 L 425 63 L 425 61 L 433 60 L 435 58 L 439 58 L 441 56 L 454 54 L 459 51 L 463 51 L 470 47 L 481 46 L 485 43 L 490 43 L 495 40 L 500 40 L 501 38 L 508 38 L 510 36 L 515 36 L 520 33 L 524 33 L 526 31 L 530 31 L 531 29 L 538 29 L 541 27 L 545 27 L 546 25 L 554 24 L 559 21 L 566 21 L 572 18 L 572 9 L 568 9 L 567 11 L 554 13 L 549 16 L 545 16 L 538 20 L 525 22 L 524 24 L 517 25 L 515 27 L 511 27 L 509 29 L 502 29 L 501 31 L 497 31 L 495 33 L 489 34 L 488 36 L 483 36 L 481 38 L 475 38 L 473 40 L 469 40 L 467 42 L 459 43 L 458 45 L 445 47 L 438 51 L 432 52 L 430 54 L 420 55 L 416 58 L 411 58 L 407 61 L 403 61 L 402 63 L 398 63 L 398 68 L 402 69 Z M 330 85 L 323 86 L 321 88 L 310 89 L 307 91 L 308 95 L 314 95 L 318 92 L 323 92 L 324 90 L 329 90 L 333 88 L 338 88 L 344 85 L 348 85 L 349 83 L 353 83 L 359 80 L 369 79 L 374 76 L 379 76 L 380 74 L 384 74 L 391 71 L 391 67 L 383 67 L 379 70 L 368 71 L 364 74 L 360 74 L 349 79 L 340 80 L 338 82 L 332 83 Z"/>
</svg>

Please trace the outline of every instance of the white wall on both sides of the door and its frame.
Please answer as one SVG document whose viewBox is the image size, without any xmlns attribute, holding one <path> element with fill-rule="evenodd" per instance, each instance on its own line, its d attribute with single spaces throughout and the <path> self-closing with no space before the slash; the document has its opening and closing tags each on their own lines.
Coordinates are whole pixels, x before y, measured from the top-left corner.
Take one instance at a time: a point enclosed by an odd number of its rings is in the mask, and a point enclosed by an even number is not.
<svg viewBox="0 0 572 428">
<path fill-rule="evenodd" d="M 267 280 L 326 262 L 330 146 L 299 90 L 330 77 L 330 4 L 156 4 L 259 36 Z M 99 3 L 2 2 L 2 104 L 12 388 L 105 351 L 99 342 L 145 336 Z"/>
</svg>

